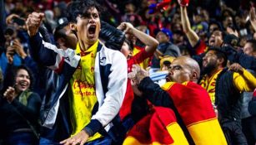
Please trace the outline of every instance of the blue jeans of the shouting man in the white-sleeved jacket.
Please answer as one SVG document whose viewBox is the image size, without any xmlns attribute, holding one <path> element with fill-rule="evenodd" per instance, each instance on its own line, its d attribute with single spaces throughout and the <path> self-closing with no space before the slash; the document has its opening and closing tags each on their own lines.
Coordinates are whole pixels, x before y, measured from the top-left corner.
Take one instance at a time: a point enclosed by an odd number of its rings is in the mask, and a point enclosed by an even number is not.
<svg viewBox="0 0 256 145">
<path fill-rule="evenodd" d="M 112 139 L 110 137 L 98 138 L 92 142 L 85 143 L 84 145 L 111 145 Z M 47 138 L 40 138 L 40 145 L 59 145 L 59 143 L 53 142 Z"/>
</svg>

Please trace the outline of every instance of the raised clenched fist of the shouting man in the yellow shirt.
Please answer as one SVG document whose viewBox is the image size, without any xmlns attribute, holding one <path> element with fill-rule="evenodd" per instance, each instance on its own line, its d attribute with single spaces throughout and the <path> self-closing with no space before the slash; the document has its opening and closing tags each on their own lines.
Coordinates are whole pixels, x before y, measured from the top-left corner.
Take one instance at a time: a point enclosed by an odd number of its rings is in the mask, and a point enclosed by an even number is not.
<svg viewBox="0 0 256 145">
<path fill-rule="evenodd" d="M 32 14 L 28 15 L 28 19 L 26 21 L 26 26 L 28 29 L 28 35 L 34 36 L 38 32 L 38 28 L 43 21 L 44 14 L 42 12 L 33 12 Z"/>
</svg>

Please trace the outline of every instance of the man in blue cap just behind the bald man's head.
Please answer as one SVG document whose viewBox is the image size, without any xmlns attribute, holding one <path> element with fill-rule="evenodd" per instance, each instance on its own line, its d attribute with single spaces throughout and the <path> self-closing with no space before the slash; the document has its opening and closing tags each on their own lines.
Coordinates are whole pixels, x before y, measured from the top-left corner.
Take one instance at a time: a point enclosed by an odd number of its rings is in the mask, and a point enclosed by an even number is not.
<svg viewBox="0 0 256 145">
<path fill-rule="evenodd" d="M 178 57 L 180 56 L 180 51 L 178 46 L 175 46 L 171 41 L 170 37 L 172 36 L 171 31 L 166 28 L 162 28 L 158 31 L 156 35 L 156 39 L 159 42 L 159 46 L 154 53 L 153 60 L 152 60 L 152 68 L 160 68 L 160 58 L 159 56 L 173 56 Z"/>
</svg>

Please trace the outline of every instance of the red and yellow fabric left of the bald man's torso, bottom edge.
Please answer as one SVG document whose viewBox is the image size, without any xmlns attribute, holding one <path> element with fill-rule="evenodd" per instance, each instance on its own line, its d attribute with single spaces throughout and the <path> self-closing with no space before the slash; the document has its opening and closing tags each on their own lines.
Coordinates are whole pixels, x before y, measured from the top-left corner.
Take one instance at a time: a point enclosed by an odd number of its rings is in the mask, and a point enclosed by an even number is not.
<svg viewBox="0 0 256 145">
<path fill-rule="evenodd" d="M 123 145 L 128 144 L 177 144 L 187 145 L 182 129 L 176 122 L 172 109 L 154 107 L 129 131 Z"/>
</svg>

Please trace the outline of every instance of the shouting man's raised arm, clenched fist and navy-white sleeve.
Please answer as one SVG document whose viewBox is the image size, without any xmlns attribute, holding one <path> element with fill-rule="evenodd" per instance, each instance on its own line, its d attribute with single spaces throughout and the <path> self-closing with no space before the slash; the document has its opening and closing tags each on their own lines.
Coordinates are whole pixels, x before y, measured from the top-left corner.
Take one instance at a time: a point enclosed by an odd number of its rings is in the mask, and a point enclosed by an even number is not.
<svg viewBox="0 0 256 145">
<path fill-rule="evenodd" d="M 67 51 L 63 51 L 58 49 L 57 46 L 43 41 L 42 36 L 38 32 L 43 17 L 43 13 L 33 12 L 28 16 L 26 22 L 31 44 L 29 51 L 33 59 L 58 73 L 62 71 L 64 62 L 75 68 L 78 65 L 80 57 L 76 56 L 73 50 L 68 49 Z"/>
</svg>

